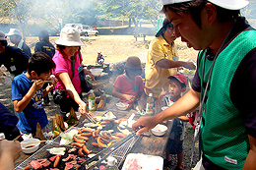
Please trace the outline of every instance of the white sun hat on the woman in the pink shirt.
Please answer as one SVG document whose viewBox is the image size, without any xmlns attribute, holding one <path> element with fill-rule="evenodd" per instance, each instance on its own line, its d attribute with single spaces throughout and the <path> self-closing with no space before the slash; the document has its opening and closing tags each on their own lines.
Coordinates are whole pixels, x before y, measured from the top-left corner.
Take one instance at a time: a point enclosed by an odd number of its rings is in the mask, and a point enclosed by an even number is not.
<svg viewBox="0 0 256 170">
<path fill-rule="evenodd" d="M 83 42 L 80 39 L 80 32 L 76 28 L 62 28 L 60 37 L 55 41 L 58 45 L 65 46 L 83 46 Z"/>
</svg>

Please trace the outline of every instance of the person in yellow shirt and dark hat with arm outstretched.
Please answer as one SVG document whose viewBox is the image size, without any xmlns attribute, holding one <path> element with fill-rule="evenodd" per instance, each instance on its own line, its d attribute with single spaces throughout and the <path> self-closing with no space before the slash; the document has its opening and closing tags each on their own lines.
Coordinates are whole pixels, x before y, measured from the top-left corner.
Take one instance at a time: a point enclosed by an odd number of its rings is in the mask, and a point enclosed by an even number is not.
<svg viewBox="0 0 256 170">
<path fill-rule="evenodd" d="M 146 62 L 146 94 L 158 98 L 161 89 L 167 90 L 168 76 L 175 75 L 178 67 L 195 69 L 193 62 L 178 61 L 176 36 L 173 25 L 165 19 L 162 28 L 150 44 Z"/>
</svg>

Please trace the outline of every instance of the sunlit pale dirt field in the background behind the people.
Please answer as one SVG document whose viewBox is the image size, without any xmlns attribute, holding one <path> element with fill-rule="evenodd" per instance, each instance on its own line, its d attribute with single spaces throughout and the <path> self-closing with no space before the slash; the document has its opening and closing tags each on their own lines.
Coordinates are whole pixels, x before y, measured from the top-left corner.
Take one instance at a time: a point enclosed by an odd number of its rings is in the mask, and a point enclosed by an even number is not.
<svg viewBox="0 0 256 170">
<path fill-rule="evenodd" d="M 100 50 L 106 55 L 105 63 L 113 63 L 130 56 L 147 55 L 150 41 L 155 36 L 138 37 L 137 41 L 133 35 L 99 35 L 99 36 L 81 36 L 84 43 L 82 46 L 82 56 L 84 64 L 95 64 L 96 52 Z M 50 41 L 55 45 L 58 36 L 50 36 Z M 26 43 L 34 50 L 34 45 L 38 41 L 38 37 L 26 37 Z M 180 60 L 188 58 L 196 60 L 197 51 L 187 48 L 186 43 L 181 42 L 180 38 L 175 40 L 178 48 Z"/>
</svg>

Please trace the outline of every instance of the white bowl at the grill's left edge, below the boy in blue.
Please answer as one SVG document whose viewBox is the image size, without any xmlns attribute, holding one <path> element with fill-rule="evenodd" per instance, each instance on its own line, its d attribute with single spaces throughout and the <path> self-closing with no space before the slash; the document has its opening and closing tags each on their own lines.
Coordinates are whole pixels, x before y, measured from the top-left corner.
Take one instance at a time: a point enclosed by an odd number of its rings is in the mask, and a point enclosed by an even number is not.
<svg viewBox="0 0 256 170">
<path fill-rule="evenodd" d="M 38 139 L 29 139 L 21 142 L 23 152 L 32 153 L 39 148 L 40 141 Z"/>
</svg>

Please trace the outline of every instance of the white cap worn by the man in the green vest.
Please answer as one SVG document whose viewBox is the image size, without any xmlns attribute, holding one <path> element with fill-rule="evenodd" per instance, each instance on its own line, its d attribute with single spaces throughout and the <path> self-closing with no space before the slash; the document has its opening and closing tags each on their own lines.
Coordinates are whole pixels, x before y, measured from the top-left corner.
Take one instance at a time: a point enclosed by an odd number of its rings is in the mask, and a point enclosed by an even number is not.
<svg viewBox="0 0 256 170">
<path fill-rule="evenodd" d="M 191 0 L 161 0 L 162 5 L 189 2 Z M 249 4 L 247 0 L 208 0 L 209 2 L 227 10 L 240 10 Z"/>
</svg>

